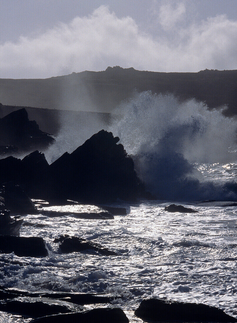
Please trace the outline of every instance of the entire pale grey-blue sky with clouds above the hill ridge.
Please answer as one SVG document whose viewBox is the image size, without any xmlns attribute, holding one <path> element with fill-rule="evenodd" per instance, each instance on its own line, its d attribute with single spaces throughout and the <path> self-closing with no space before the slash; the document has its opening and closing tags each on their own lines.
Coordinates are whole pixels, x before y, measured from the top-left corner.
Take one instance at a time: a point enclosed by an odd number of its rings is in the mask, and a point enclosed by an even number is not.
<svg viewBox="0 0 237 323">
<path fill-rule="evenodd" d="M 0 78 L 237 68 L 237 0 L 0 0 Z"/>
</svg>

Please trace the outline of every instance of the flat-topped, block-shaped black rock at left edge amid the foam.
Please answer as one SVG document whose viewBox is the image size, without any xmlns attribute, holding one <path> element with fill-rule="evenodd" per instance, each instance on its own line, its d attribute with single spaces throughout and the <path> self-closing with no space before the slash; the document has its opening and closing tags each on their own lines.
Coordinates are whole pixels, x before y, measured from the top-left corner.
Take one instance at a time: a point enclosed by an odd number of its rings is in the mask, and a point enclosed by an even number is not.
<svg viewBox="0 0 237 323">
<path fill-rule="evenodd" d="M 19 257 L 44 257 L 48 255 L 44 240 L 41 237 L 15 237 L 0 235 L 0 252 L 14 252 Z"/>
</svg>

